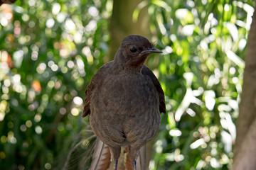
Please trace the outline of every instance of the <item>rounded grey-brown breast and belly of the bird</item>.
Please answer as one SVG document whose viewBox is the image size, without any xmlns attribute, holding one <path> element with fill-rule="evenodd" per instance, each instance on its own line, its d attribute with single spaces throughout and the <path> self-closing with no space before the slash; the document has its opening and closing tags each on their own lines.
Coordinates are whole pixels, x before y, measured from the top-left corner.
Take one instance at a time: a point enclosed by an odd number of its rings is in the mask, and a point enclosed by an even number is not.
<svg viewBox="0 0 256 170">
<path fill-rule="evenodd" d="M 159 94 L 143 75 L 106 77 L 92 94 L 90 110 L 92 130 L 112 147 L 134 143 L 139 148 L 160 125 Z"/>
</svg>

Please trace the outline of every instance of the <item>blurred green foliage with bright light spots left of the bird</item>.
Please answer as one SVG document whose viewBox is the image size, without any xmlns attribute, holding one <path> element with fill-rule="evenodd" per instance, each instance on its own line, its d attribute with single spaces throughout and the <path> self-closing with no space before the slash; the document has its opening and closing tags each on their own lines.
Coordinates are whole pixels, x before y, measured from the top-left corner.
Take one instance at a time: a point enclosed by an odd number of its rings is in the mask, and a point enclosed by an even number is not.
<svg viewBox="0 0 256 170">
<path fill-rule="evenodd" d="M 97 0 L 1 6 L 1 169 L 50 169 L 57 156 L 65 162 L 85 124 L 79 115 L 85 88 L 107 53 L 111 6 Z"/>
</svg>

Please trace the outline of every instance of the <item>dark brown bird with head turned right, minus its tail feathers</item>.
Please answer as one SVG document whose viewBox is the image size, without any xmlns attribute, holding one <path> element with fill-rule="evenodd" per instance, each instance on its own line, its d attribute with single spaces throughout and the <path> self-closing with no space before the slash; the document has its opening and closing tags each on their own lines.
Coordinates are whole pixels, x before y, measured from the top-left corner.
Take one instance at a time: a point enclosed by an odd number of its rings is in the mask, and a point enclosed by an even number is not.
<svg viewBox="0 0 256 170">
<path fill-rule="evenodd" d="M 141 35 L 125 37 L 114 60 L 97 70 L 85 90 L 82 117 L 90 115 L 95 135 L 108 147 L 117 170 L 121 147 L 129 148 L 133 169 L 139 149 L 159 130 L 166 114 L 164 91 L 144 65 L 151 53 L 162 53 Z"/>
</svg>

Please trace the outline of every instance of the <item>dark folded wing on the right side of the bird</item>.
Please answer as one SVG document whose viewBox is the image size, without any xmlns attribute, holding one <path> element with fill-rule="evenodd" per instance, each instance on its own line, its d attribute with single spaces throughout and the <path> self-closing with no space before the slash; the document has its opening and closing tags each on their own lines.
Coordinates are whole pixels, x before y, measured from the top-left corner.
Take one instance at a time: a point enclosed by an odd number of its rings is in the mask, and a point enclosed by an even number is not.
<svg viewBox="0 0 256 170">
<path fill-rule="evenodd" d="M 156 78 L 156 76 L 154 75 L 154 73 L 145 65 L 143 65 L 143 67 L 142 67 L 142 74 L 150 77 L 151 80 L 153 81 L 153 84 L 156 87 L 156 90 L 159 94 L 159 111 L 160 111 L 160 113 L 166 114 L 166 106 L 165 106 L 165 102 L 164 102 L 164 91 L 161 88 L 161 84 L 159 83 L 159 81 Z"/>
</svg>

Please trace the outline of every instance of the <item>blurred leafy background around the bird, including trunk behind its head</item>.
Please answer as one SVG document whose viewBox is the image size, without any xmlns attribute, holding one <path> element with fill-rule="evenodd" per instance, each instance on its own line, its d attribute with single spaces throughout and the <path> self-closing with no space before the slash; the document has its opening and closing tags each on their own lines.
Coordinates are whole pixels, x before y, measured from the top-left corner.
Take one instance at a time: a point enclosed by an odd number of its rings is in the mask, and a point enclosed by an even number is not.
<svg viewBox="0 0 256 170">
<path fill-rule="evenodd" d="M 163 50 L 146 65 L 167 114 L 149 169 L 230 169 L 253 1 L 20 0 L 0 7 L 1 169 L 88 169 L 87 84 L 124 36 Z M 82 168 L 81 168 L 82 167 Z"/>
</svg>

